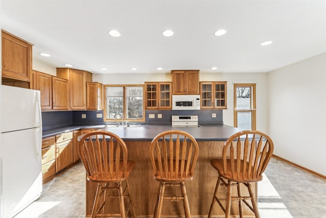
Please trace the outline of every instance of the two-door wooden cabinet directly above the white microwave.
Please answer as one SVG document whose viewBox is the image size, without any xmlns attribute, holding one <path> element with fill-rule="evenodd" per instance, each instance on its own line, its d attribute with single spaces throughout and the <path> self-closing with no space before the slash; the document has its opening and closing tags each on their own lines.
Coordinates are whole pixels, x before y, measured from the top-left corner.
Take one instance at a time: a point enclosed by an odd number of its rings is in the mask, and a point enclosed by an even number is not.
<svg viewBox="0 0 326 218">
<path fill-rule="evenodd" d="M 172 94 L 199 94 L 199 70 L 171 70 Z"/>
</svg>

